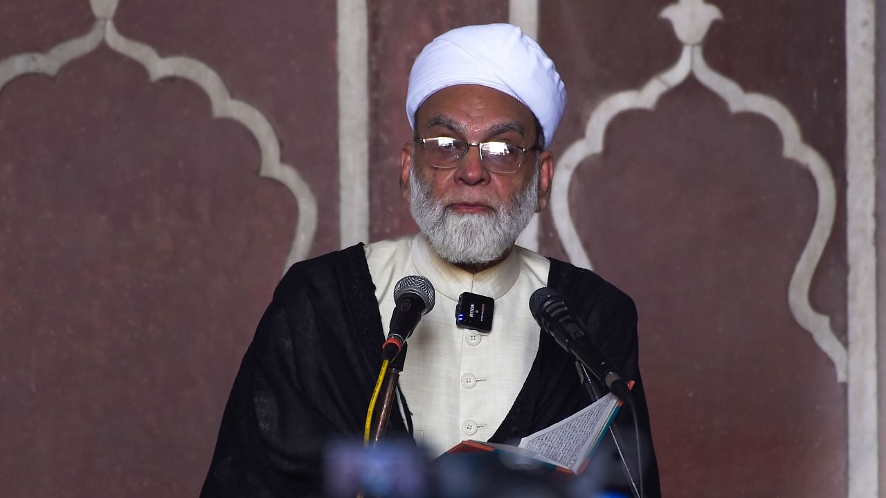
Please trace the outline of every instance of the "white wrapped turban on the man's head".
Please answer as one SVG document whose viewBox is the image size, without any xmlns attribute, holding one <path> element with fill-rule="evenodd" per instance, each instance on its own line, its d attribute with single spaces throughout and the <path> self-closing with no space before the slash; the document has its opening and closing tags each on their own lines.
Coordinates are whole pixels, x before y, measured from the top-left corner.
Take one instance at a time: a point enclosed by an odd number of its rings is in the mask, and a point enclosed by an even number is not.
<svg viewBox="0 0 886 498">
<path fill-rule="evenodd" d="M 428 43 L 409 74 L 409 126 L 416 129 L 416 110 L 434 92 L 462 84 L 497 89 L 522 102 L 539 120 L 548 148 L 563 117 L 566 89 L 554 61 L 519 27 L 458 27 Z"/>
</svg>

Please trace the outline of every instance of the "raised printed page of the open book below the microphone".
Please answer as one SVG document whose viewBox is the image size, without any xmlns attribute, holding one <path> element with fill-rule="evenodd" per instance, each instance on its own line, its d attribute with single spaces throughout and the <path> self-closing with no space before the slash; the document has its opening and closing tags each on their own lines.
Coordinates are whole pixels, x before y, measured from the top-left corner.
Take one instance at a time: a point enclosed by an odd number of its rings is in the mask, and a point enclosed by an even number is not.
<svg viewBox="0 0 886 498">
<path fill-rule="evenodd" d="M 609 426 L 618 407 L 618 398 L 608 393 L 572 416 L 520 440 L 519 447 L 539 455 L 573 472 L 578 472 L 591 447 Z"/>
</svg>

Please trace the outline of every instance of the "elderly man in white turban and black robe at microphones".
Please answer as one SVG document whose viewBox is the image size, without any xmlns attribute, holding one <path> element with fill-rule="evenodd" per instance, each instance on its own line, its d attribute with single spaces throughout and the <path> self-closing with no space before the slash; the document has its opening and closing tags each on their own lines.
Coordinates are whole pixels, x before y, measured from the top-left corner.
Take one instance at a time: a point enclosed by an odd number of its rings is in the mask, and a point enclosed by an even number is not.
<svg viewBox="0 0 886 498">
<path fill-rule="evenodd" d="M 529 296 L 548 285 L 636 381 L 643 481 L 658 495 L 633 302 L 590 271 L 515 245 L 548 204 L 548 145 L 565 99 L 553 63 L 517 27 L 462 27 L 424 48 L 409 77 L 414 140 L 400 173 L 421 233 L 303 261 L 284 276 L 237 374 L 204 496 L 322 493 L 323 446 L 362 433 L 383 317 L 408 275 L 431 281 L 436 304 L 409 339 L 405 402 L 389 434 L 411 432 L 439 455 L 460 440 L 516 442 L 587 406 L 574 359 L 532 320 Z M 456 326 L 462 292 L 494 300 L 490 331 Z M 635 456 L 633 424 L 622 419 Z M 610 463 L 608 448 L 598 454 L 595 464 Z"/>
</svg>

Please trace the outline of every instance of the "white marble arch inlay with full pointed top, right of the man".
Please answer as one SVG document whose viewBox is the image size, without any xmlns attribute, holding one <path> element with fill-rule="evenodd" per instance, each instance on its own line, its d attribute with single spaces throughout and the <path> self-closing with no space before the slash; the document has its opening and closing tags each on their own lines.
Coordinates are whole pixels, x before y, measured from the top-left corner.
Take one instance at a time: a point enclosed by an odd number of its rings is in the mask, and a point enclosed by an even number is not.
<svg viewBox="0 0 886 498">
<path fill-rule="evenodd" d="M 846 347 L 832 331 L 829 317 L 812 309 L 809 302 L 812 275 L 834 226 L 836 187 L 828 163 L 819 152 L 804 143 L 797 120 L 784 105 L 772 97 L 745 93 L 737 83 L 718 74 L 705 63 L 701 43 L 711 21 L 722 17 L 717 7 L 704 4 L 703 0 L 680 0 L 679 4 L 666 7 L 661 15 L 672 21 L 677 37 L 683 43 L 680 59 L 670 69 L 650 79 L 641 89 L 618 92 L 607 97 L 595 108 L 587 121 L 585 136 L 571 144 L 558 161 L 553 188 L 560 192 L 569 191 L 572 175 L 581 161 L 602 152 L 604 132 L 618 113 L 632 109 L 652 109 L 664 92 L 683 82 L 690 74 L 723 98 L 730 112 L 758 113 L 765 116 L 781 133 L 783 156 L 805 167 L 812 174 L 818 190 L 819 205 L 812 233 L 790 279 L 789 307 L 797 323 L 812 334 L 816 345 L 834 362 L 837 381 L 846 382 Z M 592 268 L 590 257 L 581 244 L 572 221 L 569 196 L 553 196 L 551 208 L 557 234 L 571 261 L 579 266 Z"/>
</svg>

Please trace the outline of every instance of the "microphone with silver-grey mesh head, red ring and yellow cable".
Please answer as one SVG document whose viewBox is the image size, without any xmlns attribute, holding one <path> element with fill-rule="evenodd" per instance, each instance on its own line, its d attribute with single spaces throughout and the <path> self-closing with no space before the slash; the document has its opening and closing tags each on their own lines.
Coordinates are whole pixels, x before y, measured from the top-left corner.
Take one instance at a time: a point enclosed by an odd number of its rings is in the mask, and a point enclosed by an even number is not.
<svg viewBox="0 0 886 498">
<path fill-rule="evenodd" d="M 416 330 L 422 315 L 434 307 L 434 286 L 424 276 L 404 276 L 393 286 L 393 302 L 391 326 L 382 345 L 382 356 L 388 361 L 400 354 L 400 348 Z"/>
</svg>

